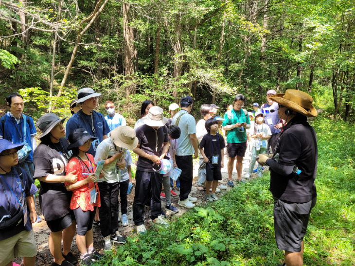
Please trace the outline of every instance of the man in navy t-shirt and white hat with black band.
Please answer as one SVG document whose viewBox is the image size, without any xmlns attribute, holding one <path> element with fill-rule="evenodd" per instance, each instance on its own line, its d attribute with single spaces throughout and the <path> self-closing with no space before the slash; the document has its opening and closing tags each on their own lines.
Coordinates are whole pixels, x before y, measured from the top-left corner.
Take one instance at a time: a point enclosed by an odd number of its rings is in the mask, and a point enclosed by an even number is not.
<svg viewBox="0 0 355 266">
<path fill-rule="evenodd" d="M 107 134 L 110 132 L 104 116 L 94 110 L 100 96 L 101 93 L 96 93 L 91 88 L 79 89 L 76 105 L 81 105 L 81 110 L 73 114 L 66 125 L 67 136 L 76 128 L 85 128 L 90 135 L 96 138 L 88 151 L 92 156 L 95 156 L 97 146 L 107 138 Z"/>
</svg>

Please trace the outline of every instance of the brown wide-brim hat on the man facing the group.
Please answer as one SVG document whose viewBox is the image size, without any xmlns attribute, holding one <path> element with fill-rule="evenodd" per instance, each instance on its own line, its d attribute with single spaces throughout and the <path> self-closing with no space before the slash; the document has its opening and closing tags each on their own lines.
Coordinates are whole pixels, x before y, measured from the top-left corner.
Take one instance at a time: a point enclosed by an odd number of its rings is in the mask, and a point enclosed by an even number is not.
<svg viewBox="0 0 355 266">
<path fill-rule="evenodd" d="M 302 90 L 287 89 L 285 93 L 274 94 L 269 98 L 302 115 L 309 117 L 318 115 L 316 108 L 312 106 L 313 98 Z"/>
</svg>

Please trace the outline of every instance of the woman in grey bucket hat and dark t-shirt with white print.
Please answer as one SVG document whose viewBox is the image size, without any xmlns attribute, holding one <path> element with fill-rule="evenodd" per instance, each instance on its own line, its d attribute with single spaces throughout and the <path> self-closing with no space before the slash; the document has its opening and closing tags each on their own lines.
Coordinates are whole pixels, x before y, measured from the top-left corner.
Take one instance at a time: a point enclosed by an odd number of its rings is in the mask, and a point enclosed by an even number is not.
<svg viewBox="0 0 355 266">
<path fill-rule="evenodd" d="M 68 153 L 69 142 L 65 137 L 64 119 L 53 113 L 46 113 L 37 121 L 42 131 L 41 143 L 35 149 L 35 175 L 41 183 L 39 202 L 47 225 L 51 230 L 48 246 L 53 255 L 53 266 L 71 266 L 77 259 L 70 252 L 75 234 L 75 220 L 69 208 L 71 192 L 64 182 L 75 183 L 75 171 L 65 175 L 65 166 L 71 154 Z M 63 252 L 61 242 L 63 240 Z"/>
</svg>

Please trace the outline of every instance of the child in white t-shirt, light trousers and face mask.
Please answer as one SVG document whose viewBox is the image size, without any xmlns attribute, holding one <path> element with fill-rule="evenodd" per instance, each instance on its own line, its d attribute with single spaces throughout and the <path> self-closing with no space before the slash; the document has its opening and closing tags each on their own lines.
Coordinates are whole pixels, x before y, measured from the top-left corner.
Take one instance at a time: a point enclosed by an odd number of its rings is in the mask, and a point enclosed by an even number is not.
<svg viewBox="0 0 355 266">
<path fill-rule="evenodd" d="M 254 169 L 256 156 L 266 153 L 267 140 L 271 137 L 271 131 L 267 124 L 264 123 L 264 115 L 262 113 L 256 113 L 254 128 L 250 130 L 249 136 L 253 141 L 250 142 L 251 157 L 249 163 L 249 171 L 245 175 L 245 178 L 250 178 L 251 172 Z M 262 166 L 258 166 L 257 175 L 262 177 Z"/>
</svg>

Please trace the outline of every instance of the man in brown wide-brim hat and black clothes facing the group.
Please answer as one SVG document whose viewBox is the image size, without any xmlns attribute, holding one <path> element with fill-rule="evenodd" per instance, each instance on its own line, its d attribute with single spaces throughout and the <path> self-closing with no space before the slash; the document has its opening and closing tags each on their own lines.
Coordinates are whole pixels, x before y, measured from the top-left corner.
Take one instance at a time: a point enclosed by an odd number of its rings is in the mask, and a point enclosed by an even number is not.
<svg viewBox="0 0 355 266">
<path fill-rule="evenodd" d="M 270 191 L 274 198 L 277 247 L 284 250 L 285 264 L 303 265 L 303 237 L 317 191 L 317 136 L 307 117 L 317 116 L 313 99 L 301 90 L 287 89 L 270 96 L 279 104 L 284 128 L 272 159 L 260 154 L 259 163 L 270 167 Z M 271 156 L 270 156 L 271 157 Z"/>
</svg>

